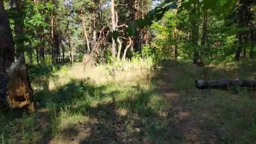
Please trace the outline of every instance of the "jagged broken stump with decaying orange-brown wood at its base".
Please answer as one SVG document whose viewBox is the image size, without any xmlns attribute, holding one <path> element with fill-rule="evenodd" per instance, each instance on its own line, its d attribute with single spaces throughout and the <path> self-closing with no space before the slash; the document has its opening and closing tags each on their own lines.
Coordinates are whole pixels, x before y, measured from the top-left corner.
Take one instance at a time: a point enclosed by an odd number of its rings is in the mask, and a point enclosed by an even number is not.
<svg viewBox="0 0 256 144">
<path fill-rule="evenodd" d="M 33 91 L 29 82 L 24 55 L 13 62 L 7 69 L 8 92 L 7 102 L 13 108 L 27 107 L 34 111 Z"/>
</svg>

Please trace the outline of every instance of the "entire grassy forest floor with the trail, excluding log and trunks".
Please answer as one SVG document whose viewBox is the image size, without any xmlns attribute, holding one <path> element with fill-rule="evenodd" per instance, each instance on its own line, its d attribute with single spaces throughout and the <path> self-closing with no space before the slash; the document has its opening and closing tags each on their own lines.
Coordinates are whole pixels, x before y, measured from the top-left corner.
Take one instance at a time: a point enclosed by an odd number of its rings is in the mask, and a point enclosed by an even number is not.
<svg viewBox="0 0 256 144">
<path fill-rule="evenodd" d="M 256 93 L 244 88 L 198 90 L 202 69 L 182 61 L 83 71 L 32 68 L 32 115 L 1 115 L 1 142 L 24 144 L 253 144 Z M 253 79 L 251 61 L 211 67 L 209 79 Z M 44 69 L 47 71 L 47 69 Z M 49 69 L 48 69 L 49 70 Z M 38 73 L 42 72 L 40 75 Z M 37 75 L 34 75 L 34 74 Z M 51 75 L 50 75 L 51 73 Z"/>
</svg>

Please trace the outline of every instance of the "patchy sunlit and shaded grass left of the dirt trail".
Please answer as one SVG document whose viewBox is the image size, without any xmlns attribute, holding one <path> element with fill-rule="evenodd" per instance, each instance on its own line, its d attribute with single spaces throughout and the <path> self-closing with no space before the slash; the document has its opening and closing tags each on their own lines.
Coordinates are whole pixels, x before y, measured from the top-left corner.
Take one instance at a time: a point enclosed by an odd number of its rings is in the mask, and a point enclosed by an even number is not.
<svg viewBox="0 0 256 144">
<path fill-rule="evenodd" d="M 32 69 L 35 101 L 40 106 L 34 115 L 3 114 L 2 141 L 94 143 L 104 137 L 111 143 L 128 137 L 139 139 L 149 130 L 145 139 L 154 141 L 158 130 L 152 123 L 161 116 L 167 102 L 153 90 L 151 64 L 125 63 L 117 67 L 114 76 L 111 70 L 116 66 L 106 65 L 85 72 L 81 64 L 42 68 L 47 72 L 38 75 L 36 69 L 40 68 Z M 131 141 L 139 141 L 135 138 Z"/>
</svg>

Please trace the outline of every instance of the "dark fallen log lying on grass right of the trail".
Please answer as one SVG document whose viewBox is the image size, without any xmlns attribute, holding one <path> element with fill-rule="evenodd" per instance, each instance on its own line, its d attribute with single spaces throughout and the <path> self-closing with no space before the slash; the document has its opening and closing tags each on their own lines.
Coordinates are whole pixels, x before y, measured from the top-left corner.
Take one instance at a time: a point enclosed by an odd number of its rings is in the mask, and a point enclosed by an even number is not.
<svg viewBox="0 0 256 144">
<path fill-rule="evenodd" d="M 255 89 L 256 80 L 195 80 L 195 87 L 199 89 L 227 89 L 229 86 L 248 87 Z"/>
</svg>

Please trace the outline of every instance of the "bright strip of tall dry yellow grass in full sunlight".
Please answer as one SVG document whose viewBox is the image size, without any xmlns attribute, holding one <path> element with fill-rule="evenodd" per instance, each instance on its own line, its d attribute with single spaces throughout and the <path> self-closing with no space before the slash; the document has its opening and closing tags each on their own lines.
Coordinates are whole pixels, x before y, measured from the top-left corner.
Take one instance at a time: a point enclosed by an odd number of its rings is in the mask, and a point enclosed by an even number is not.
<svg viewBox="0 0 256 144">
<path fill-rule="evenodd" d="M 72 80 L 84 80 L 87 78 L 93 81 L 95 85 L 103 85 L 112 82 L 129 83 L 130 81 L 138 80 L 150 81 L 150 77 L 152 77 L 152 72 L 150 71 L 151 67 L 152 65 L 144 64 L 144 61 L 138 63 L 125 62 L 122 64 L 121 68 L 117 68 L 113 75 L 112 71 L 115 69 L 115 66 L 98 65 L 96 67 L 85 67 L 84 70 L 82 63 L 75 63 L 67 68 L 67 72 L 64 75 L 60 74 L 61 72 L 56 72 L 56 75 L 59 75 L 59 77 L 49 78 L 46 85 L 48 85 L 48 90 L 53 91 L 58 87 L 67 85 Z M 36 78 L 33 84 L 35 85 L 35 83 L 37 83 L 42 85 L 45 79 L 47 78 L 44 76 Z"/>
</svg>

